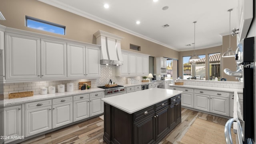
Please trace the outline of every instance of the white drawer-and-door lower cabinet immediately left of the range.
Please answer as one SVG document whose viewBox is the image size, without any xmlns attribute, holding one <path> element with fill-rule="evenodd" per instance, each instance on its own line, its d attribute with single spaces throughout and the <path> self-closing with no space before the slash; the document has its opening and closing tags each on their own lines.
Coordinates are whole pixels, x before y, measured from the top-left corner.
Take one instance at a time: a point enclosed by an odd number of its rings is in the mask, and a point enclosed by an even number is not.
<svg viewBox="0 0 256 144">
<path fill-rule="evenodd" d="M 90 93 L 90 117 L 103 113 L 103 92 Z"/>
</svg>

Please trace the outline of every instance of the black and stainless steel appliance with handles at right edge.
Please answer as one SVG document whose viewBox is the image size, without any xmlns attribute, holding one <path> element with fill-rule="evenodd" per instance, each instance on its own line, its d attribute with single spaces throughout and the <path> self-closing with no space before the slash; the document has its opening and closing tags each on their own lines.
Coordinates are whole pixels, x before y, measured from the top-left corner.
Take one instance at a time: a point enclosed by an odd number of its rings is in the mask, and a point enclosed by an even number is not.
<svg viewBox="0 0 256 144">
<path fill-rule="evenodd" d="M 243 82 L 243 107 L 237 103 L 237 118 L 230 119 L 225 126 L 226 142 L 230 143 L 230 127 L 237 123 L 238 143 L 251 144 L 254 141 L 254 47 L 256 37 L 243 39 L 236 50 L 237 71 L 225 69 L 230 76 L 236 76 Z M 237 97 L 238 100 L 238 97 Z M 239 100 L 238 100 L 239 101 Z M 241 101 L 241 99 L 240 99 Z M 235 111 L 235 109 L 234 109 Z"/>
</svg>

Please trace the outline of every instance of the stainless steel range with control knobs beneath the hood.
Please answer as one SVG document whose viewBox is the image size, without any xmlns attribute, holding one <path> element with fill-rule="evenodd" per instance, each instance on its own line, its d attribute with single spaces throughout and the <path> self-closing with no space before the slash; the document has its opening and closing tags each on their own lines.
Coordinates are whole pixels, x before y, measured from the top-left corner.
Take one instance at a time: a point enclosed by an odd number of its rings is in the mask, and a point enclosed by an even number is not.
<svg viewBox="0 0 256 144">
<path fill-rule="evenodd" d="M 105 97 L 111 97 L 114 95 L 120 95 L 125 93 L 124 86 L 114 86 L 114 87 L 106 87 L 106 86 L 98 86 L 98 88 L 105 89 Z"/>
</svg>

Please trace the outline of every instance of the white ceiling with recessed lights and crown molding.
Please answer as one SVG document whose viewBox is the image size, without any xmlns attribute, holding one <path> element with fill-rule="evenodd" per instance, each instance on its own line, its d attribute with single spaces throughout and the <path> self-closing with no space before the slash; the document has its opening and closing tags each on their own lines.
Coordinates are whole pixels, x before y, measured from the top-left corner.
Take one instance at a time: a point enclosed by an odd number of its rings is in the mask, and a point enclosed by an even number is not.
<svg viewBox="0 0 256 144">
<path fill-rule="evenodd" d="M 236 27 L 237 0 L 39 0 L 177 51 L 222 45 Z M 105 9 L 104 4 L 109 4 Z M 167 10 L 162 10 L 168 6 Z M 137 25 L 136 21 L 140 24 Z M 168 24 L 170 27 L 163 28 Z M 191 44 L 191 46 L 186 46 Z"/>
</svg>

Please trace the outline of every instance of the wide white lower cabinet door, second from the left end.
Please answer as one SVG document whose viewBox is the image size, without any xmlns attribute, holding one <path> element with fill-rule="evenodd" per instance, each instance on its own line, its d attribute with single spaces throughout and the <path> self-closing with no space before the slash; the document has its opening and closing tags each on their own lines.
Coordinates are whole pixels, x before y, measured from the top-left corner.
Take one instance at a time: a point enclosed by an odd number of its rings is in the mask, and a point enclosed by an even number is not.
<svg viewBox="0 0 256 144">
<path fill-rule="evenodd" d="M 52 106 L 26 110 L 26 136 L 52 129 Z"/>
</svg>

